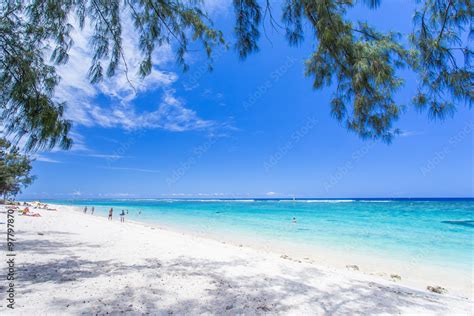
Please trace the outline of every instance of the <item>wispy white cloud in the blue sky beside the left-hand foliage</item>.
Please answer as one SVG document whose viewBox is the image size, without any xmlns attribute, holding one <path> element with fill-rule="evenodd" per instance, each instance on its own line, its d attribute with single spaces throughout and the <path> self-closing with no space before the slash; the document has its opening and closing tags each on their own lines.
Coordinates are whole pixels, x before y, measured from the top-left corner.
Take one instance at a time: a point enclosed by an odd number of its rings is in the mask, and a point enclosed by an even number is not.
<svg viewBox="0 0 474 316">
<path fill-rule="evenodd" d="M 128 14 L 124 13 L 122 18 L 122 46 L 128 71 L 125 72 L 124 65 L 120 65 L 114 77 L 104 78 L 96 85 L 90 84 L 87 76 L 92 59 L 88 45 L 91 27 L 86 23 L 84 30 L 80 31 L 76 27 L 71 33 L 74 46 L 69 53 L 69 62 L 58 67 L 62 80 L 55 94 L 59 100 L 68 104 L 66 117 L 76 125 L 87 127 L 118 127 L 127 130 L 161 128 L 177 132 L 212 128 L 214 121 L 201 119 L 195 111 L 186 108 L 182 100 L 176 98 L 172 84 L 178 80 L 177 74 L 160 70 L 160 67 L 174 60 L 169 45 L 157 48 L 151 74 L 140 78 L 138 68 L 142 54 L 138 48 L 138 36 Z M 161 100 L 140 105 L 139 108 L 135 104 L 136 98 L 145 92 L 162 92 Z M 80 149 L 81 145 L 78 146 Z"/>
</svg>

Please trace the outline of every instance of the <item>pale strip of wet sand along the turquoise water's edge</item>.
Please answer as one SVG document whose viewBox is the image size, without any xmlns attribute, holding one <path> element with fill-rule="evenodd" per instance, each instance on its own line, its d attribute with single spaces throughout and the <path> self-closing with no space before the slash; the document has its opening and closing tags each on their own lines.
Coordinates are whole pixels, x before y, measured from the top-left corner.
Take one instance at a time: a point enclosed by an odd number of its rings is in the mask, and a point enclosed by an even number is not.
<svg viewBox="0 0 474 316">
<path fill-rule="evenodd" d="M 57 207 L 68 208 L 75 212 L 82 213 L 79 206 L 50 204 Z M 87 214 L 90 215 L 90 214 Z M 93 216 L 104 218 L 97 214 Z M 118 214 L 115 215 L 117 219 Z M 253 250 L 264 252 L 269 255 L 280 256 L 287 260 L 295 262 L 306 262 L 315 264 L 325 269 L 335 269 L 335 271 L 352 270 L 354 273 L 360 273 L 367 276 L 375 276 L 386 281 L 415 288 L 426 290 L 428 286 L 441 286 L 446 288 L 449 293 L 462 298 L 474 300 L 474 271 L 466 277 L 469 271 L 462 271 L 452 267 L 443 267 L 440 270 L 434 265 L 427 265 L 423 262 L 407 262 L 400 259 L 382 258 L 381 256 L 371 256 L 373 254 L 351 251 L 341 253 L 340 249 L 334 250 L 328 247 L 316 246 L 295 246 L 292 242 L 274 242 L 272 240 L 252 240 L 236 234 L 223 236 L 218 233 L 197 232 L 190 229 L 166 226 L 156 222 L 129 220 L 126 223 L 160 229 L 167 232 L 185 234 L 195 238 L 213 240 L 222 244 L 229 244 L 235 247 L 248 247 Z"/>
</svg>

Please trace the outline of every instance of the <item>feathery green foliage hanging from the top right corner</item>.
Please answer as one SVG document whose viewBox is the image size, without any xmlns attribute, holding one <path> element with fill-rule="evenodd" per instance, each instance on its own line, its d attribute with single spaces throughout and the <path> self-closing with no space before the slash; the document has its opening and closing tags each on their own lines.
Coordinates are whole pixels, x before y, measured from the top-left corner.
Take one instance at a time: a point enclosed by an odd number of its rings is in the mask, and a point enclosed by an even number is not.
<svg viewBox="0 0 474 316">
<path fill-rule="evenodd" d="M 363 2 L 372 9 L 383 4 Z M 355 5 L 351 0 L 286 0 L 283 9 L 290 44 L 304 39 L 303 21 L 311 24 L 316 50 L 306 74 L 316 89 L 337 83 L 331 112 L 349 130 L 387 142 L 399 132 L 393 123 L 404 109 L 394 100 L 404 84 L 397 75 L 401 68 L 418 75 L 413 104 L 428 108 L 430 116 L 443 118 L 463 103 L 472 106 L 470 0 L 419 1 L 408 38 L 349 20 L 347 11 Z"/>
</svg>

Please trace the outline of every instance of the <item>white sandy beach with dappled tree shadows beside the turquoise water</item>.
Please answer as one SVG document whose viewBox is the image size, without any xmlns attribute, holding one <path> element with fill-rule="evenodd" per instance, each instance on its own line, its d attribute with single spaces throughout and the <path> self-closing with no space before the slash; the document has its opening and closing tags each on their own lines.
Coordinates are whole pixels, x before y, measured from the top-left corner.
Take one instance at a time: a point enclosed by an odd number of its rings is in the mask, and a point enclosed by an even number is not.
<svg viewBox="0 0 474 316">
<path fill-rule="evenodd" d="M 357 271 L 71 207 L 32 211 L 41 217 L 15 213 L 15 309 L 6 307 L 4 255 L 1 314 L 474 313 L 471 299 Z"/>
</svg>

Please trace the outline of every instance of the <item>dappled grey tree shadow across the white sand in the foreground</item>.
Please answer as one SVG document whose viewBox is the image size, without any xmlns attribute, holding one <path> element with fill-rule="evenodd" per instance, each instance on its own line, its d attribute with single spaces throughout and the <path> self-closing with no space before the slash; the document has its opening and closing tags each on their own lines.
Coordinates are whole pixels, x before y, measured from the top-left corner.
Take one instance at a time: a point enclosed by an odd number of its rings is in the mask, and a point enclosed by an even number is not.
<svg viewBox="0 0 474 316">
<path fill-rule="evenodd" d="M 27 233 L 24 232 L 26 235 Z M 61 232 L 44 232 L 44 237 L 56 239 Z M 297 312 L 306 307 L 314 314 L 399 314 L 404 307 L 415 307 L 425 312 L 443 314 L 445 307 L 435 295 L 409 290 L 397 285 L 387 286 L 376 282 L 351 281 L 333 285 L 324 291 L 308 285 L 309 278 L 327 275 L 314 268 L 304 268 L 286 277 L 268 275 L 229 276 L 229 265 L 252 265 L 244 260 L 209 261 L 180 257 L 173 261 L 146 258 L 137 264 L 127 265 L 115 260 L 88 260 L 75 256 L 71 249 L 78 247 L 100 251 L 94 243 L 71 244 L 70 242 L 39 240 L 37 236 L 19 241 L 18 252 L 38 254 L 66 254 L 67 260 L 51 259 L 47 262 L 26 262 L 18 266 L 21 297 L 37 291 L 45 284 L 58 287 L 89 286 L 94 291 L 86 300 L 77 297 L 50 297 L 51 306 L 73 314 L 151 313 L 151 314 L 281 314 Z M 42 236 L 43 237 L 43 236 Z M 53 256 L 55 257 L 55 256 Z M 57 257 L 57 256 L 56 256 Z M 134 283 L 140 275 L 147 280 L 143 286 Z M 98 284 L 110 278 L 123 278 L 117 288 L 100 286 L 91 289 L 92 281 Z M 138 284 L 143 284 L 137 282 Z M 166 292 L 163 284 L 167 284 Z M 199 298 L 183 293 L 183 287 L 205 285 Z M 2 295 L 4 291 L 2 290 Z M 186 290 L 184 290 L 186 292 Z M 45 293 L 47 294 L 47 293 Z M 2 297 L 2 300 L 4 298 Z M 18 309 L 21 311 L 21 309 Z"/>
</svg>

